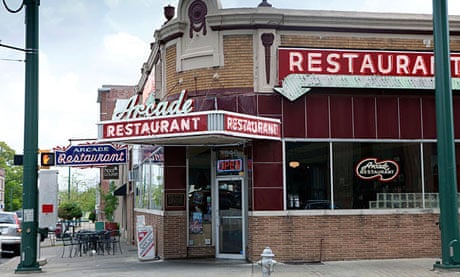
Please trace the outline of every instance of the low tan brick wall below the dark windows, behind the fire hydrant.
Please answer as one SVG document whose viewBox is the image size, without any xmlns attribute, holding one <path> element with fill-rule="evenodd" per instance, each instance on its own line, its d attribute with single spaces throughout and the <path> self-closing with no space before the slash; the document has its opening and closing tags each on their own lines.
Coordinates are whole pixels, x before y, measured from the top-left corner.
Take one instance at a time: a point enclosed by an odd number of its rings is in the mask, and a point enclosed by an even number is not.
<svg viewBox="0 0 460 277">
<path fill-rule="evenodd" d="M 437 257 L 439 215 L 250 216 L 248 259 L 270 246 L 279 261 Z"/>
</svg>

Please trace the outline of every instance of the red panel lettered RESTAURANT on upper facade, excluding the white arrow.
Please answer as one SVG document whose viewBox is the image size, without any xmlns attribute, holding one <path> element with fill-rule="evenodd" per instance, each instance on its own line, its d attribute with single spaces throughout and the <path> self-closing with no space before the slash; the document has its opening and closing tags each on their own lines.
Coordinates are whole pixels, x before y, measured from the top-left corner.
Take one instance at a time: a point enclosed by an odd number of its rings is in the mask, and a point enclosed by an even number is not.
<svg viewBox="0 0 460 277">
<path fill-rule="evenodd" d="M 279 79 L 289 74 L 431 77 L 432 52 L 280 48 Z M 452 77 L 460 78 L 460 54 L 451 54 Z"/>
</svg>

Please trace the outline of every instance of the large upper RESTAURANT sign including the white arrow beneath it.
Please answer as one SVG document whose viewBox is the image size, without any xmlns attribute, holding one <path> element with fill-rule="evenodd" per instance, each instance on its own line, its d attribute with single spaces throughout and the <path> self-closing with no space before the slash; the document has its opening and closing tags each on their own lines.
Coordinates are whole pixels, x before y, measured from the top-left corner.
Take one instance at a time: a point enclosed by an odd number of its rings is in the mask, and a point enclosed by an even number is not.
<svg viewBox="0 0 460 277">
<path fill-rule="evenodd" d="M 432 52 L 278 49 L 281 87 L 294 101 L 312 87 L 434 89 Z M 460 89 L 460 54 L 451 54 L 452 89 Z"/>
</svg>

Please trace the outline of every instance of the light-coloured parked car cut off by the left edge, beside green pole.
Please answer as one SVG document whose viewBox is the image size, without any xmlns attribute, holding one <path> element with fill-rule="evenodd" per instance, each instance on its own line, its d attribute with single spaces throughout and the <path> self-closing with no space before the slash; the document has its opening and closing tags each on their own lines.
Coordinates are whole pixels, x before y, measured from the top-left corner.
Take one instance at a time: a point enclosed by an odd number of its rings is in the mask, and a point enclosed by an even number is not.
<svg viewBox="0 0 460 277">
<path fill-rule="evenodd" d="M 21 251 L 21 224 L 14 212 L 0 212 L 1 256 L 18 256 Z"/>
</svg>

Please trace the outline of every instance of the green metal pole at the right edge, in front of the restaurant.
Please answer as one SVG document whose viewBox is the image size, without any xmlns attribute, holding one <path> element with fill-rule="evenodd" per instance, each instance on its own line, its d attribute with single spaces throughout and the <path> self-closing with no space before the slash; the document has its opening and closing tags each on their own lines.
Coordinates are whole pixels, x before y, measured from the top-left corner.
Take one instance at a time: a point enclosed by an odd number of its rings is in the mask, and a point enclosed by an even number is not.
<svg viewBox="0 0 460 277">
<path fill-rule="evenodd" d="M 435 99 L 442 261 L 435 268 L 460 269 L 457 175 L 452 108 L 447 0 L 433 0 Z"/>
</svg>

